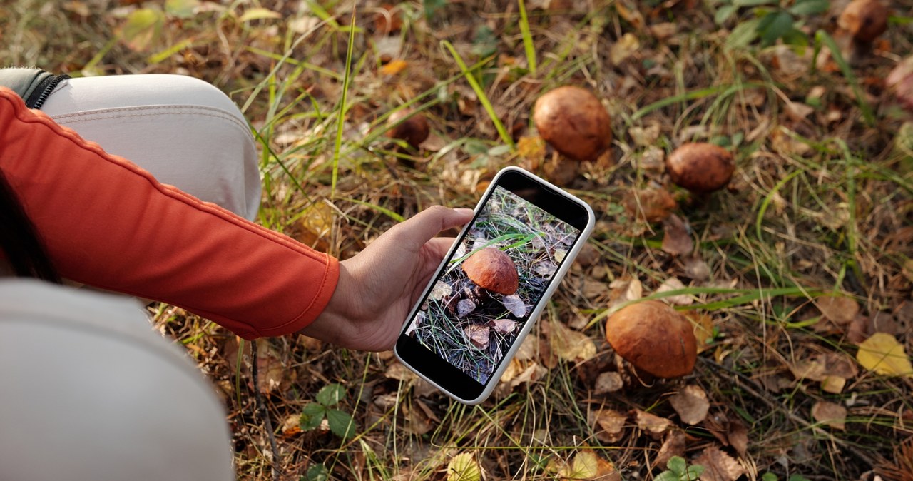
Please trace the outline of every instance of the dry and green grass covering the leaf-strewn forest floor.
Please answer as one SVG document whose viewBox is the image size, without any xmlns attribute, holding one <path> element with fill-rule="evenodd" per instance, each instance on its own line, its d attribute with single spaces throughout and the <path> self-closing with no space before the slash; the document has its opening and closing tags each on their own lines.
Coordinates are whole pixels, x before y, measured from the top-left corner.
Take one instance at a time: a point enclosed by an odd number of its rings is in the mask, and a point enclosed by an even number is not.
<svg viewBox="0 0 913 481">
<path fill-rule="evenodd" d="M 827 356 L 855 364 L 852 326 L 890 330 L 913 352 L 913 159 L 896 148 L 904 114 L 882 84 L 897 58 L 913 50 L 908 0 L 891 2 L 903 21 L 855 60 L 872 124 L 839 68 L 813 70 L 809 59 L 782 47 L 727 48 L 712 6 L 698 2 L 569 0 L 552 1 L 551 9 L 527 2 L 535 72 L 514 2 L 442 4 L 430 17 L 425 8 L 433 1 L 392 9 L 360 3 L 338 148 L 351 3 L 324 5 L 331 14 L 324 17 L 307 2 L 203 2 L 193 15 L 164 16 L 161 34 L 137 51 L 118 35 L 137 8 L 162 7 L 146 4 L 17 0 L 0 12 L 0 58 L 71 75 L 171 72 L 215 83 L 243 106 L 262 147 L 260 222 L 335 256 L 352 256 L 428 205 L 475 204 L 492 174 L 510 164 L 565 184 L 599 215 L 588 258 L 572 269 L 519 361 L 528 379 L 514 373 L 514 385 L 502 385 L 477 408 L 429 390 L 397 370 L 388 353 L 290 337 L 261 342 L 260 388 L 287 478 L 323 465 L 336 479 L 443 479 L 449 459 L 470 452 L 488 479 L 551 479 L 584 447 L 624 477 L 655 476 L 662 439 L 632 416 L 620 440 L 604 441 L 591 423 L 603 408 L 666 417 L 686 434 L 689 462 L 718 446 L 750 479 L 859 479 L 879 466 L 882 476 L 909 478 L 909 442 L 900 443 L 913 435 L 910 378 L 859 369 L 834 393 L 803 371 Z M 280 15 L 242 20 L 255 7 Z M 388 16 L 401 21 L 389 35 Z M 834 28 L 831 14 L 804 20 L 809 32 Z M 624 34 L 640 45 L 615 62 Z M 472 68 L 484 98 L 445 40 Z M 404 70 L 394 72 L 388 57 L 404 60 Z M 572 174 L 550 151 L 520 141 L 535 135 L 535 99 L 562 84 L 593 89 L 614 124 L 613 151 Z M 819 86 L 820 99 L 807 99 Z M 485 99 L 511 140 L 520 141 L 518 152 L 504 147 Z M 796 116 L 791 102 L 813 111 Z M 405 104 L 423 110 L 434 133 L 418 151 L 380 136 L 386 116 Z M 696 245 L 692 257 L 666 254 L 662 225 L 625 209 L 633 188 L 666 183 L 656 156 L 682 141 L 729 145 L 738 163 L 729 189 L 708 198 L 671 189 Z M 598 320 L 624 300 L 632 281 L 649 295 L 670 277 L 687 286 L 694 301 L 687 309 L 709 319 L 711 340 L 697 370 L 687 379 L 596 392 L 598 375 L 615 371 Z M 821 321 L 813 297 L 824 292 L 852 299 L 859 323 Z M 253 414 L 250 358 L 243 355 L 249 346 L 179 309 L 161 306 L 153 317 L 224 394 L 237 476 L 268 479 L 268 438 Z M 556 321 L 592 340 L 595 356 L 562 359 Z M 352 439 L 294 427 L 302 407 L 330 382 L 348 388 L 341 409 L 354 414 Z M 667 400 L 685 384 L 708 393 L 716 423 L 679 421 Z M 813 419 L 821 401 L 848 409 L 845 429 Z M 731 441 L 739 425 L 748 433 L 742 453 Z"/>
</svg>

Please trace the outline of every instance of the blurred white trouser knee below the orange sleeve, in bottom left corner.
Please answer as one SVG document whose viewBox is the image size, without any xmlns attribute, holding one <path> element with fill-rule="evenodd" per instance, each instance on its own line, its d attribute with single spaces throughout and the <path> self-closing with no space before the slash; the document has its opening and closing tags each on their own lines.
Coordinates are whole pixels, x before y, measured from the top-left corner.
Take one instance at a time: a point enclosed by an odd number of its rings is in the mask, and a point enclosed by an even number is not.
<svg viewBox="0 0 913 481">
<path fill-rule="evenodd" d="M 223 407 L 135 300 L 0 279 L 0 479 L 233 479 Z"/>
</svg>

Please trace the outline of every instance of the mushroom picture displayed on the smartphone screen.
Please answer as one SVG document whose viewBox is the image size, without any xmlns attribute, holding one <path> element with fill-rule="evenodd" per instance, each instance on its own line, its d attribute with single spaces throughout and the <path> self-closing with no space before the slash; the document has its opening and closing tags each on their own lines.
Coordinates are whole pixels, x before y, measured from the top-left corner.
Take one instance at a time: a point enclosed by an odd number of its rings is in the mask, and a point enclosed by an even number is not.
<svg viewBox="0 0 913 481">
<path fill-rule="evenodd" d="M 581 235 L 524 198 L 540 195 L 496 186 L 405 329 L 480 387 L 491 381 Z"/>
</svg>

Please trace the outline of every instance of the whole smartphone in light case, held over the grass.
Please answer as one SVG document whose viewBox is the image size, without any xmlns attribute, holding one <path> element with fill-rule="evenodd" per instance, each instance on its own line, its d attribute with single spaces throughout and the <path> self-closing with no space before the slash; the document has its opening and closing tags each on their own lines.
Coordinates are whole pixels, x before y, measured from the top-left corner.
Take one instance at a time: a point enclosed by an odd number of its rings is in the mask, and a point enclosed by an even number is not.
<svg viewBox="0 0 913 481">
<path fill-rule="evenodd" d="M 397 359 L 460 403 L 484 401 L 593 223 L 572 194 L 517 167 L 498 172 L 405 319 Z"/>
</svg>

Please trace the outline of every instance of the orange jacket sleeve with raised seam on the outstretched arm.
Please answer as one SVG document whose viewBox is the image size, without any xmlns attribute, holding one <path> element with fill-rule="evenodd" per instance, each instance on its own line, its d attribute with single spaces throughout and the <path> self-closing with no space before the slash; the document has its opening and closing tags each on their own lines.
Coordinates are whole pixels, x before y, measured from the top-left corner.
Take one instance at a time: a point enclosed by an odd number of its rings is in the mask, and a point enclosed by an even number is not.
<svg viewBox="0 0 913 481">
<path fill-rule="evenodd" d="M 156 182 L 4 88 L 0 169 L 60 275 L 77 282 L 185 308 L 246 339 L 304 328 L 336 287 L 334 257 Z"/>
</svg>

